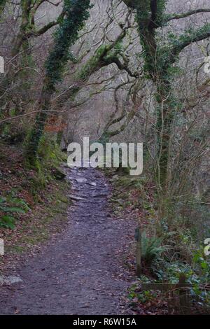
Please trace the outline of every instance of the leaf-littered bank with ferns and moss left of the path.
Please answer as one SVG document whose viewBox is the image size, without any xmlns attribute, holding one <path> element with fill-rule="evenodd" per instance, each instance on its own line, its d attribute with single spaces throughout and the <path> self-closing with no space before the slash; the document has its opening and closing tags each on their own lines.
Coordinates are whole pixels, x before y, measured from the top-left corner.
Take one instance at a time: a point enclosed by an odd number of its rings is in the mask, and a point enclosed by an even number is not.
<svg viewBox="0 0 210 329">
<path fill-rule="evenodd" d="M 45 229 L 43 232 L 36 230 L 36 225 L 39 225 L 40 221 L 34 218 L 34 214 L 41 216 L 41 219 L 45 218 L 45 223 L 50 223 L 48 214 L 39 214 L 43 211 L 43 205 L 50 202 L 51 210 L 56 211 L 57 202 L 61 205 L 67 203 L 66 182 L 62 180 L 65 175 L 59 169 L 60 163 L 66 160 L 66 155 L 59 150 L 52 136 L 49 134 L 43 136 L 34 169 L 26 167 L 20 147 L 20 145 L 0 144 L 0 237 L 6 237 L 7 242 L 10 241 L 10 237 L 12 240 L 16 239 L 17 235 L 22 235 L 25 241 L 28 239 L 38 241 L 44 236 Z M 52 200 L 50 200 L 51 194 Z M 56 207 L 53 206 L 54 202 Z M 48 213 L 49 218 L 53 219 L 50 209 Z M 31 237 L 28 236 L 27 228 L 31 228 L 32 235 L 29 234 Z"/>
</svg>

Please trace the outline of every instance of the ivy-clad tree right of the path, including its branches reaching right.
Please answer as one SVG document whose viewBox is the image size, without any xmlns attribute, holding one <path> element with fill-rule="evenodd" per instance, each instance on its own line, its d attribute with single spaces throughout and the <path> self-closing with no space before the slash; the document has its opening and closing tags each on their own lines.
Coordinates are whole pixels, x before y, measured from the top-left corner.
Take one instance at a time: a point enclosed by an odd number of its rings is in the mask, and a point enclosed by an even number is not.
<svg viewBox="0 0 210 329">
<path fill-rule="evenodd" d="M 136 10 L 136 18 L 139 29 L 139 37 L 144 50 L 144 72 L 153 80 L 156 86 L 157 99 L 157 123 L 158 134 L 158 178 L 163 191 L 167 191 L 169 177 L 169 148 L 172 132 L 172 124 L 177 111 L 174 102 L 172 82 L 173 64 L 179 57 L 180 52 L 190 43 L 203 40 L 210 36 L 210 25 L 204 25 L 174 40 L 168 39 L 168 44 L 159 43 L 158 29 L 165 26 L 169 20 L 185 18 L 194 13 L 210 11 L 210 9 L 190 10 L 188 13 L 171 14 L 165 13 L 167 0 L 123 0 L 127 6 Z"/>
</svg>

